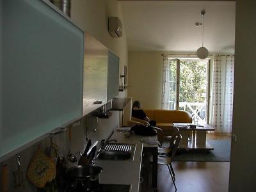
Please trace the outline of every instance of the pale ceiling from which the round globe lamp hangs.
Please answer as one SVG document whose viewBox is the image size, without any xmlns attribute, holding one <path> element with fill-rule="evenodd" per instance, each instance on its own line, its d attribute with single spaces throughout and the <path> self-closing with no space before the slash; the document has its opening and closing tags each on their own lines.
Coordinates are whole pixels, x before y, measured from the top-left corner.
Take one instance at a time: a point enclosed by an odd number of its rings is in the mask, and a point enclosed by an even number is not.
<svg viewBox="0 0 256 192">
<path fill-rule="evenodd" d="M 118 1 L 129 51 L 234 53 L 236 1 Z"/>
</svg>

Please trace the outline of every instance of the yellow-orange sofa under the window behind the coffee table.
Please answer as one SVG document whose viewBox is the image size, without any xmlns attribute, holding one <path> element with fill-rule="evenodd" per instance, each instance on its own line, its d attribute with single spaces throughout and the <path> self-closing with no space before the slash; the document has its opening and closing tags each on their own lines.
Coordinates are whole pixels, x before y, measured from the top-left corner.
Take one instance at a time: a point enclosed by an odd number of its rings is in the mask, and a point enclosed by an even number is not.
<svg viewBox="0 0 256 192">
<path fill-rule="evenodd" d="M 164 135 L 171 133 L 173 123 L 192 123 L 192 116 L 187 111 L 146 109 L 144 110 L 150 120 L 156 121 L 156 127 L 163 129 Z"/>
</svg>

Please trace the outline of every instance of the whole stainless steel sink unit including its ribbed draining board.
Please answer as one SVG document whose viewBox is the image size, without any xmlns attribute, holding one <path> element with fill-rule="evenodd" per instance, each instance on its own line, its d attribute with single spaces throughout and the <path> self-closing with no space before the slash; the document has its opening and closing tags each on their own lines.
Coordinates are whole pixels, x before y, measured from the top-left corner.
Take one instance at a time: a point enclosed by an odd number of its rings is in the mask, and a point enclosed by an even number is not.
<svg viewBox="0 0 256 192">
<path fill-rule="evenodd" d="M 96 159 L 101 160 L 115 160 L 115 161 L 133 161 L 134 152 L 136 149 L 135 144 L 128 143 L 109 143 L 100 152 Z"/>
</svg>

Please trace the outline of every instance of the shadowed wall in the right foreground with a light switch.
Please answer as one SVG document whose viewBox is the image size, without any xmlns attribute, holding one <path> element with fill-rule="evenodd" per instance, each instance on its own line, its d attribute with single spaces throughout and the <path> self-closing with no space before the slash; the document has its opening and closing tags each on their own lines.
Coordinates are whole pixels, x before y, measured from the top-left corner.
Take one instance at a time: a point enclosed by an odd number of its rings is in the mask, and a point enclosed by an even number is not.
<svg viewBox="0 0 256 192">
<path fill-rule="evenodd" d="M 236 1 L 233 134 L 229 191 L 256 191 L 256 1 Z"/>
</svg>

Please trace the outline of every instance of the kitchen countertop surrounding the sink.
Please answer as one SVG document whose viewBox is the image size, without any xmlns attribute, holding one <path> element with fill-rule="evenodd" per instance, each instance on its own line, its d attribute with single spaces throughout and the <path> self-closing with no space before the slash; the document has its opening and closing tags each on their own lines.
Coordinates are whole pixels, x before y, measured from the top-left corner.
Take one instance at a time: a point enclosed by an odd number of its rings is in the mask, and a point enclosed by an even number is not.
<svg viewBox="0 0 256 192">
<path fill-rule="evenodd" d="M 132 192 L 139 191 L 142 149 L 143 147 L 157 147 L 157 145 L 141 143 L 140 138 L 148 137 L 132 135 L 130 138 L 125 138 L 124 134 L 116 131 L 114 132 L 111 139 L 116 139 L 117 143 L 136 144 L 134 161 L 109 161 L 101 159 L 95 161 L 96 166 L 101 166 L 103 168 L 102 173 L 100 173 L 100 183 L 130 184 L 132 185 Z M 156 136 L 154 136 L 154 138 L 156 139 Z"/>
</svg>

